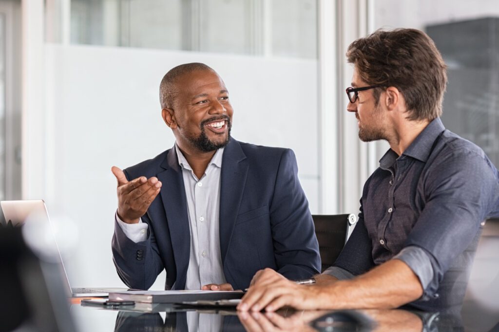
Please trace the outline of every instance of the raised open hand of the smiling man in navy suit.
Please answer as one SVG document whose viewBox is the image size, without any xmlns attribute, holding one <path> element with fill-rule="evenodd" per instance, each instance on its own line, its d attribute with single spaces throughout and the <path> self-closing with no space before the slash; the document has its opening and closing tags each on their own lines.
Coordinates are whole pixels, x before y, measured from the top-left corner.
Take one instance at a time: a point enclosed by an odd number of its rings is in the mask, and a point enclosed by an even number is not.
<svg viewBox="0 0 499 332">
<path fill-rule="evenodd" d="M 161 181 L 155 176 L 147 179 L 145 176 L 128 181 L 125 173 L 116 166 L 111 171 L 118 180 L 118 216 L 128 224 L 139 222 L 149 205 L 161 189 Z"/>
</svg>

